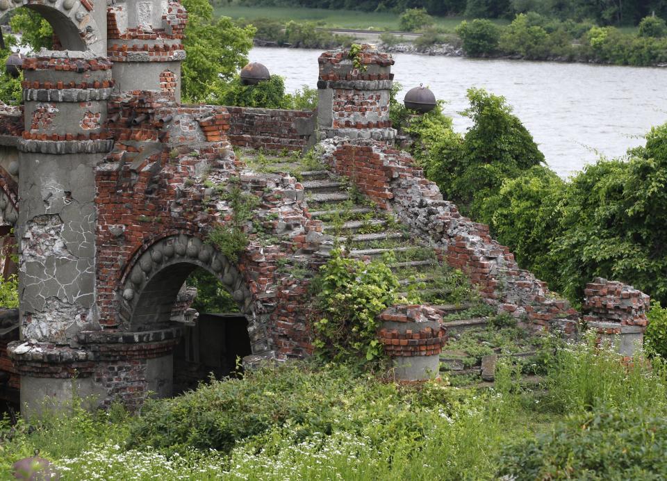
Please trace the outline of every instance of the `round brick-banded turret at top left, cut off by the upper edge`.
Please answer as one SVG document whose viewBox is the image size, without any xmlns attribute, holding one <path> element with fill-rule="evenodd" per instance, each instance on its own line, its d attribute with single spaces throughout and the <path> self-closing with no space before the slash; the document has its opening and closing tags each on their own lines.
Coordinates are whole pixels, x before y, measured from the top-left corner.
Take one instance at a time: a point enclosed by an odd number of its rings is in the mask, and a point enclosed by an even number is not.
<svg viewBox="0 0 667 481">
<path fill-rule="evenodd" d="M 117 2 L 108 8 L 108 57 L 120 92 L 152 90 L 181 101 L 183 30 L 179 1 Z"/>
</svg>

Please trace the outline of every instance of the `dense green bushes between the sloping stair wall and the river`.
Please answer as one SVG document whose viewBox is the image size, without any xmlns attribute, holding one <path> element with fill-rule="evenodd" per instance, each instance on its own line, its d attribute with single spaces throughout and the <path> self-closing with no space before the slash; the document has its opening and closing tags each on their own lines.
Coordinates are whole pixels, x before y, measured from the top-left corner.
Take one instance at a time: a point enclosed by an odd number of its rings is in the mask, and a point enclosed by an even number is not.
<svg viewBox="0 0 667 481">
<path fill-rule="evenodd" d="M 502 97 L 468 92 L 474 122 L 460 136 L 431 113 L 403 129 L 413 155 L 450 199 L 516 254 L 520 265 L 575 304 L 595 277 L 667 300 L 667 124 L 627 158 L 598 161 L 569 181 L 543 165 L 532 136 Z"/>
</svg>

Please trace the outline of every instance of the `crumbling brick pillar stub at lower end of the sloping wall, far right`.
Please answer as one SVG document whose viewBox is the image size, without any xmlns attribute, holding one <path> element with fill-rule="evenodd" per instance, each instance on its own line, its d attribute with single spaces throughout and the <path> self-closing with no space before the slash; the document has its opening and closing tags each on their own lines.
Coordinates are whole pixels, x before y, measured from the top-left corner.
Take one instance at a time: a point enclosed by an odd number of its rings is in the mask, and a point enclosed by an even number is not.
<svg viewBox="0 0 667 481">
<path fill-rule="evenodd" d="M 584 320 L 600 342 L 618 339 L 621 354 L 632 355 L 643 343 L 650 298 L 632 286 L 598 277 L 586 284 Z"/>
</svg>

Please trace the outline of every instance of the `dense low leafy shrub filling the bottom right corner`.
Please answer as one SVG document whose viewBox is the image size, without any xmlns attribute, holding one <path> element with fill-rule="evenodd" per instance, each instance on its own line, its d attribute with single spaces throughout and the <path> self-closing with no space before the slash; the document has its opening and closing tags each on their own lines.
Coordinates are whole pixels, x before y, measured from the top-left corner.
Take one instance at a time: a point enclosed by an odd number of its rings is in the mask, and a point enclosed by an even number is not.
<svg viewBox="0 0 667 481">
<path fill-rule="evenodd" d="M 511 443 L 498 475 L 517 481 L 659 480 L 667 476 L 665 450 L 665 416 L 636 407 L 604 407 Z"/>
</svg>

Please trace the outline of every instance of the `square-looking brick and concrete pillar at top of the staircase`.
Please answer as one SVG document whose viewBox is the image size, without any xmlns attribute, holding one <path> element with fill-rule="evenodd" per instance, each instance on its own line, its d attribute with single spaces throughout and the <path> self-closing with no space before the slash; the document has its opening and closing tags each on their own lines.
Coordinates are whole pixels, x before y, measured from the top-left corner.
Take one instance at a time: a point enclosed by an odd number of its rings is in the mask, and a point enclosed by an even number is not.
<svg viewBox="0 0 667 481">
<path fill-rule="evenodd" d="M 320 55 L 318 128 L 321 138 L 367 138 L 392 142 L 389 95 L 394 64 L 390 54 L 363 44 L 361 51 Z"/>
</svg>

